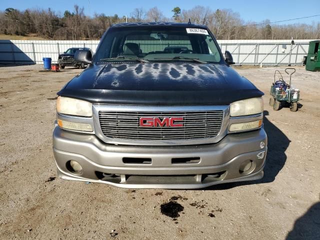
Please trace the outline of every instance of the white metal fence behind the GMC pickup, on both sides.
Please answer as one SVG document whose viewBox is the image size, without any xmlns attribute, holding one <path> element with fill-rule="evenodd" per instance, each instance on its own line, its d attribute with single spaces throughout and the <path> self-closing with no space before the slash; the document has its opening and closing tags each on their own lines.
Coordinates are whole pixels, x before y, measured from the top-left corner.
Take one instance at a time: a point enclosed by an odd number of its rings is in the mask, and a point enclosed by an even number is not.
<svg viewBox="0 0 320 240">
<path fill-rule="evenodd" d="M 236 64 L 300 65 L 310 40 L 218 40 Z M 0 40 L 0 63 L 42 64 L 42 57 L 57 62 L 59 53 L 69 47 L 89 47 L 95 51 L 99 40 Z"/>
</svg>

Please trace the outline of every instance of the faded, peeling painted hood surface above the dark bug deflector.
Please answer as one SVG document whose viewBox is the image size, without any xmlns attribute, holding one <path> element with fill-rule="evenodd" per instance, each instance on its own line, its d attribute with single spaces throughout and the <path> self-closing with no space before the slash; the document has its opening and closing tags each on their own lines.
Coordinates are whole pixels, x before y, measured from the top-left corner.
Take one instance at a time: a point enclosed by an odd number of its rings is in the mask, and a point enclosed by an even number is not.
<svg viewBox="0 0 320 240">
<path fill-rule="evenodd" d="M 253 88 L 226 65 L 191 63 L 123 63 L 95 65 L 66 88 L 110 90 L 208 90 Z"/>
</svg>

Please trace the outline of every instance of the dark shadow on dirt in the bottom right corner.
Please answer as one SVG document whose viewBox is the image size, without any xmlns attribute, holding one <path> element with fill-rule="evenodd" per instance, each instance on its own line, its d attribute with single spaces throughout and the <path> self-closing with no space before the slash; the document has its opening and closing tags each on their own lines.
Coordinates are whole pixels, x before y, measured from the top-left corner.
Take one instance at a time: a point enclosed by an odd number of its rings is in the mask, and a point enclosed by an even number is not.
<svg viewBox="0 0 320 240">
<path fill-rule="evenodd" d="M 286 240 L 320 239 L 320 202 L 313 204 L 301 217 L 296 219 Z"/>
</svg>

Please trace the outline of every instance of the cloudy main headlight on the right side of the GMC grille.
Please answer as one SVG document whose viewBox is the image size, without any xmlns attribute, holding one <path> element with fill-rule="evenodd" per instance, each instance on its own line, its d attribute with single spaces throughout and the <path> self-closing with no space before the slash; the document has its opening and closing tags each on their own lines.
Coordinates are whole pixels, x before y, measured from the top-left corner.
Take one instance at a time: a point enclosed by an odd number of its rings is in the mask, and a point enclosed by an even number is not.
<svg viewBox="0 0 320 240">
<path fill-rule="evenodd" d="M 253 97 L 232 102 L 230 116 L 244 116 L 261 113 L 263 111 L 262 97 Z"/>
</svg>

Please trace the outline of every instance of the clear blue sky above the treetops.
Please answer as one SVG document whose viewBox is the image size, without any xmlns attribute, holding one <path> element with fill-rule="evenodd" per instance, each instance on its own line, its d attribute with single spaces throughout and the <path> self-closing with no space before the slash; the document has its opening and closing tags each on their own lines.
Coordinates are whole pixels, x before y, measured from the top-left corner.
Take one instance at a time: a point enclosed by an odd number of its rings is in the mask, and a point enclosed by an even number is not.
<svg viewBox="0 0 320 240">
<path fill-rule="evenodd" d="M 50 7 L 54 11 L 73 10 L 73 5 L 78 4 L 84 7 L 86 15 L 104 13 L 105 15 L 118 14 L 119 16 L 130 15 L 136 7 L 145 10 L 156 6 L 165 16 L 171 17 L 171 10 L 175 6 L 181 9 L 190 9 L 195 5 L 209 6 L 212 10 L 217 8 L 228 8 L 240 14 L 245 21 L 261 22 L 264 19 L 272 21 L 285 20 L 303 16 L 320 14 L 319 0 L 1 0 L 0 9 L 7 7 L 24 10 L 26 8 Z M 315 7 L 310 7 L 315 6 Z M 320 21 L 320 16 L 292 20 L 284 22 L 291 23 L 312 23 Z"/>
</svg>

